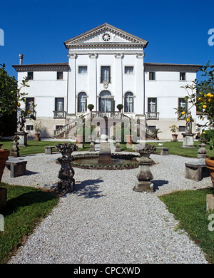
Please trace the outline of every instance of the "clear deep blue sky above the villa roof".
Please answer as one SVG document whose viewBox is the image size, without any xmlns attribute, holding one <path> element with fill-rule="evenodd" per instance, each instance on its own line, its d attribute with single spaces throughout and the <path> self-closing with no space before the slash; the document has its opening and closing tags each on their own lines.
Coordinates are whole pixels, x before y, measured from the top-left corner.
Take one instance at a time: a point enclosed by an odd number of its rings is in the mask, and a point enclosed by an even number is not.
<svg viewBox="0 0 214 278">
<path fill-rule="evenodd" d="M 1 0 L 0 63 L 67 62 L 63 42 L 105 22 L 148 41 L 146 62 L 214 64 L 213 0 Z M 214 38 L 213 38 L 214 42 Z"/>
</svg>

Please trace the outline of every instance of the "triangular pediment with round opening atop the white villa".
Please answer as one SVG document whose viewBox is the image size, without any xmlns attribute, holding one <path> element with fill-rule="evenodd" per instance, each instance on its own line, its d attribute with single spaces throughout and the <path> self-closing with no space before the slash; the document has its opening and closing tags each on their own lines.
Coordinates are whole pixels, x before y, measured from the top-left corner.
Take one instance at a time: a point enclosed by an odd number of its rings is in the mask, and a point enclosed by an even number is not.
<svg viewBox="0 0 214 278">
<path fill-rule="evenodd" d="M 121 29 L 118 29 L 110 24 L 102 24 L 94 29 L 91 29 L 81 35 L 65 41 L 65 46 L 71 47 L 77 44 L 141 44 L 146 47 L 148 41 L 133 36 Z"/>
</svg>

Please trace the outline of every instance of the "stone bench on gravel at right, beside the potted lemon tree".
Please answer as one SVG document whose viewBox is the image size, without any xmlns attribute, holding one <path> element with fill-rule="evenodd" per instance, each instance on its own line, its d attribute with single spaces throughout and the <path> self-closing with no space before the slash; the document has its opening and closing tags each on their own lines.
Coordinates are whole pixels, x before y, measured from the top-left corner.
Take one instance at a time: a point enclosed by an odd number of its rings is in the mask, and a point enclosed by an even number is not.
<svg viewBox="0 0 214 278">
<path fill-rule="evenodd" d="M 199 182 L 203 177 L 210 175 L 206 167 L 205 160 L 193 161 L 185 163 L 185 178 Z"/>
</svg>

